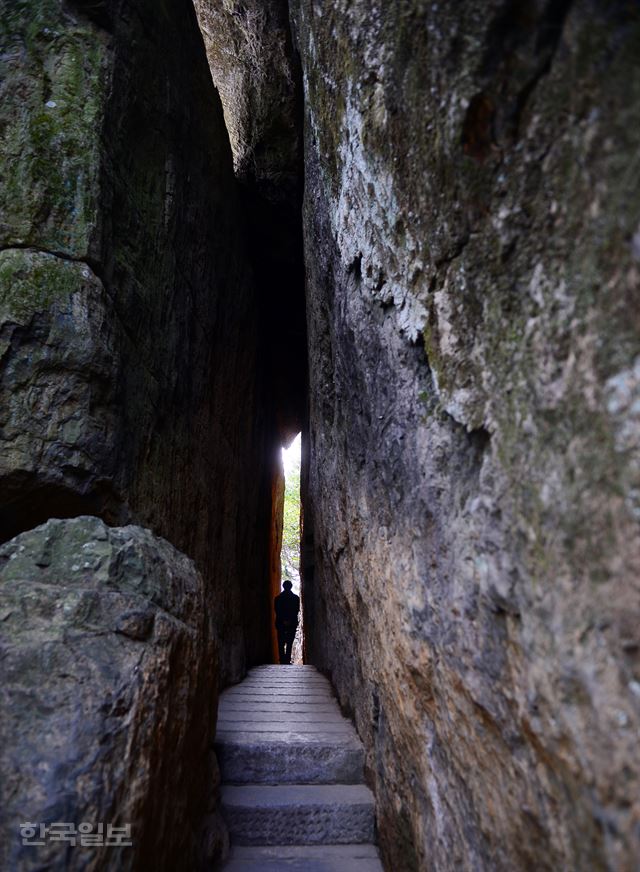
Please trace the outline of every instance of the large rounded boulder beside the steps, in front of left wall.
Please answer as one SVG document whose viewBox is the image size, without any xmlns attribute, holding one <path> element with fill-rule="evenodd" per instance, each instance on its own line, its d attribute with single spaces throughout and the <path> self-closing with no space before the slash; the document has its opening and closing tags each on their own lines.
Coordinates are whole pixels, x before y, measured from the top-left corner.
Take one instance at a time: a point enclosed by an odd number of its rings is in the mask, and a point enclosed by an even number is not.
<svg viewBox="0 0 640 872">
<path fill-rule="evenodd" d="M 52 520 L 0 548 L 3 869 L 197 869 L 221 852 L 217 650 L 191 560 L 139 527 Z M 22 846 L 25 821 L 131 847 Z"/>
</svg>

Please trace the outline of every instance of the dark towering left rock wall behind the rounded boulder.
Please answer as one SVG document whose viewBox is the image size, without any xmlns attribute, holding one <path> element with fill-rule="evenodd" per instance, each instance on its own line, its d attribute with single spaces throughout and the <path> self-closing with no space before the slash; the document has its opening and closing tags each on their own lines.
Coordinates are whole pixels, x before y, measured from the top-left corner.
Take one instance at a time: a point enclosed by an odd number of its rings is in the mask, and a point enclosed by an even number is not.
<svg viewBox="0 0 640 872">
<path fill-rule="evenodd" d="M 152 528 L 238 679 L 268 656 L 275 413 L 192 4 L 3 2 L 0 82 L 1 538 Z"/>
</svg>

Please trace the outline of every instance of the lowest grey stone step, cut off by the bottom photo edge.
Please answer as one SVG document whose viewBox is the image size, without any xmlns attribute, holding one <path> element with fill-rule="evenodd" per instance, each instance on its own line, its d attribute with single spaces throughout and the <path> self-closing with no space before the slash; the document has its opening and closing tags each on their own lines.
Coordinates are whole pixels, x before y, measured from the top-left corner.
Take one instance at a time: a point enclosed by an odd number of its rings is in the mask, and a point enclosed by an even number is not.
<svg viewBox="0 0 640 872">
<path fill-rule="evenodd" d="M 223 872 L 383 872 L 375 845 L 236 845 Z"/>
</svg>

